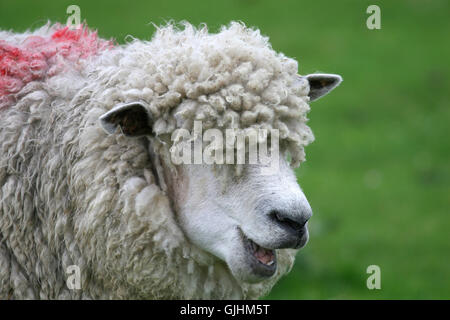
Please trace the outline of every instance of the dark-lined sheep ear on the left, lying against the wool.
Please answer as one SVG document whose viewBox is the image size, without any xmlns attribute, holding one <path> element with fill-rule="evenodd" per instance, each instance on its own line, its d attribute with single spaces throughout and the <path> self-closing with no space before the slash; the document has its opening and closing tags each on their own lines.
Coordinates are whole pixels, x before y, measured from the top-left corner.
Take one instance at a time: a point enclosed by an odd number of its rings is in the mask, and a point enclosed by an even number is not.
<svg viewBox="0 0 450 320">
<path fill-rule="evenodd" d="M 108 134 L 119 127 L 123 134 L 130 137 L 152 133 L 150 115 L 142 102 L 119 104 L 100 117 L 100 124 Z"/>
</svg>

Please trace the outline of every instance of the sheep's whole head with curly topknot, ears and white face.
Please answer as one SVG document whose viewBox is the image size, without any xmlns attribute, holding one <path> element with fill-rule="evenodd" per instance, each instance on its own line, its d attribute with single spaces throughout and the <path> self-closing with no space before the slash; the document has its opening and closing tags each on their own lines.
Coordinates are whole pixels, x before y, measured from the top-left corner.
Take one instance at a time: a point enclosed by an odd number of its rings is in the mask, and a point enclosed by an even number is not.
<svg viewBox="0 0 450 320">
<path fill-rule="evenodd" d="M 140 55 L 121 63 L 130 80 L 112 81 L 116 100 L 123 102 L 110 106 L 100 124 L 108 134 L 147 137 L 157 158 L 153 171 L 188 241 L 222 262 L 244 291 L 259 286 L 259 294 L 266 292 L 308 241 L 312 210 L 291 168 L 313 141 L 308 102 L 334 89 L 341 77 L 299 76 L 295 60 L 275 53 L 267 38 L 241 24 L 216 35 L 169 26 L 150 43 L 130 47 Z M 145 54 L 149 61 L 139 65 Z M 135 100 L 123 94 L 130 87 Z M 195 122 L 223 137 L 228 129 L 275 130 L 279 149 L 271 161 L 277 170 L 263 174 L 267 163 L 261 162 L 175 163 L 174 150 L 195 147 L 203 138 L 177 131 L 193 132 Z"/>
</svg>

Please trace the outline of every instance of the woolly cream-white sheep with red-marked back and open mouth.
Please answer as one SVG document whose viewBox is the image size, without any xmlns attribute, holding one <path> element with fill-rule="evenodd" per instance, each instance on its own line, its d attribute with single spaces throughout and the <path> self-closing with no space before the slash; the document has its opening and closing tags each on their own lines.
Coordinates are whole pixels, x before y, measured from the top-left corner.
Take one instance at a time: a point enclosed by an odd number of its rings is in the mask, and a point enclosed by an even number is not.
<svg viewBox="0 0 450 320">
<path fill-rule="evenodd" d="M 0 298 L 256 299 L 290 271 L 312 214 L 291 167 L 340 76 L 298 75 L 238 22 L 0 39 Z M 196 121 L 276 129 L 279 170 L 174 164 Z"/>
</svg>

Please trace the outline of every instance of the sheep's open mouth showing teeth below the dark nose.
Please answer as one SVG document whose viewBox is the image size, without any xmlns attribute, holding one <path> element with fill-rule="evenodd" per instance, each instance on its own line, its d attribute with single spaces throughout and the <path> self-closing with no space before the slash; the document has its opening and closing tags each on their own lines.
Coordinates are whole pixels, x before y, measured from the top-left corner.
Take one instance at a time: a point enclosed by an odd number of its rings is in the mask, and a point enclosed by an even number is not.
<svg viewBox="0 0 450 320">
<path fill-rule="evenodd" d="M 273 276 L 277 270 L 275 250 L 263 248 L 244 234 L 242 235 L 248 262 L 253 273 L 263 278 Z"/>
</svg>

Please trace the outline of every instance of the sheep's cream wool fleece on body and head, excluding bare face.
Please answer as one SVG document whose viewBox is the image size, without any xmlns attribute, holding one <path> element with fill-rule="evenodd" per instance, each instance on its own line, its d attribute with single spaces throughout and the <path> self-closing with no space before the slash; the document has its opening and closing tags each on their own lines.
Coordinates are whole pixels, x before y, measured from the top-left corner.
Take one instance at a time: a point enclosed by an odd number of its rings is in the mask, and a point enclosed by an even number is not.
<svg viewBox="0 0 450 320">
<path fill-rule="evenodd" d="M 55 27 L 36 34 L 49 36 Z M 0 33 L 5 41 L 32 34 Z M 156 153 L 170 135 L 204 128 L 279 129 L 293 164 L 313 140 L 307 81 L 258 30 L 231 23 L 217 34 L 189 24 L 157 30 L 66 63 L 26 83 L 0 110 L 0 297 L 257 298 L 290 270 L 279 250 L 274 277 L 239 283 L 226 265 L 192 245 L 156 183 L 148 144 L 106 135 L 98 118 L 143 101 Z M 80 267 L 81 290 L 65 270 Z"/>
</svg>

